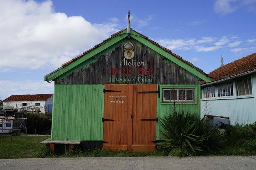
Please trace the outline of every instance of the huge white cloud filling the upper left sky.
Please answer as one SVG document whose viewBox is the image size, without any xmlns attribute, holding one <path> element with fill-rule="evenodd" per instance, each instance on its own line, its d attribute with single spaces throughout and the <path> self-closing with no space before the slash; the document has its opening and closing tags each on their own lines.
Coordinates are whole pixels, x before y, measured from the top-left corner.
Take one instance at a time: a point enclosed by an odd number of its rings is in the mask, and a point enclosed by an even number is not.
<svg viewBox="0 0 256 170">
<path fill-rule="evenodd" d="M 119 30 L 33 0 L 0 1 L 0 24 L 0 68 L 56 68 Z"/>
</svg>

